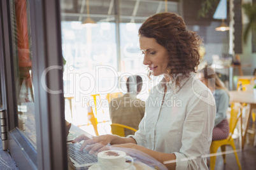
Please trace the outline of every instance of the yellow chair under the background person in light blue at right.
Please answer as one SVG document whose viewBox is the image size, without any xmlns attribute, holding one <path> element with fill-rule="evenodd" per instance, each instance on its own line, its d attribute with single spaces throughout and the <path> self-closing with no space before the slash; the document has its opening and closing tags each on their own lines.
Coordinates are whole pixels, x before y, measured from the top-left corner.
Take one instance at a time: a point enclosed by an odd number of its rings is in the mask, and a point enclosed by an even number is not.
<svg viewBox="0 0 256 170">
<path fill-rule="evenodd" d="M 238 123 L 238 120 L 240 119 L 242 115 L 242 108 L 241 105 L 238 103 L 232 103 L 231 104 L 231 119 L 229 121 L 229 136 L 225 140 L 216 140 L 211 142 L 211 147 L 210 147 L 210 154 L 212 155 L 210 157 L 210 168 L 213 170 L 215 168 L 215 162 L 216 162 L 216 155 L 217 155 L 217 150 L 219 147 L 221 147 L 222 152 L 222 157 L 224 159 L 224 164 L 226 162 L 225 160 L 225 146 L 226 145 L 231 145 L 231 147 L 234 150 L 234 155 L 236 157 L 236 162 L 238 162 L 238 167 L 241 169 L 241 165 L 239 163 L 238 159 L 238 154 L 236 154 L 236 147 L 234 144 L 234 139 L 232 138 L 232 134 L 234 133 L 234 129 L 236 128 L 236 124 Z"/>
</svg>

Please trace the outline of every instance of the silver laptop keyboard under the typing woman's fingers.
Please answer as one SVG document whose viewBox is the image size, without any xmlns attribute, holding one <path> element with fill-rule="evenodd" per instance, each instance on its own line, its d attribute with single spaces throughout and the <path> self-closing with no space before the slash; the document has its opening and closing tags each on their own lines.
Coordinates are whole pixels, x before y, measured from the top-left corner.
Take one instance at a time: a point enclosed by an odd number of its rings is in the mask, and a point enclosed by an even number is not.
<svg viewBox="0 0 256 170">
<path fill-rule="evenodd" d="M 74 159 L 78 164 L 88 164 L 97 162 L 97 155 L 90 155 L 87 150 L 79 151 L 81 143 L 68 143 L 69 157 Z"/>
</svg>

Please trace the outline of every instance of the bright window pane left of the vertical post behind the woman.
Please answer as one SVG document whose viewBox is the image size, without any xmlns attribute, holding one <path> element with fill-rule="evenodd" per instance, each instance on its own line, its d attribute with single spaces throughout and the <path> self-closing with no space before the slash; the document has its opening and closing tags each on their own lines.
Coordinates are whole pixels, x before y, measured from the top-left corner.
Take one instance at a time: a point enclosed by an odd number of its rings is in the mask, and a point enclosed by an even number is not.
<svg viewBox="0 0 256 170">
<path fill-rule="evenodd" d="M 91 95 L 106 95 L 117 79 L 115 8 L 113 1 L 80 1 L 76 8 L 75 1 L 60 2 L 66 121 L 87 124 Z"/>
</svg>

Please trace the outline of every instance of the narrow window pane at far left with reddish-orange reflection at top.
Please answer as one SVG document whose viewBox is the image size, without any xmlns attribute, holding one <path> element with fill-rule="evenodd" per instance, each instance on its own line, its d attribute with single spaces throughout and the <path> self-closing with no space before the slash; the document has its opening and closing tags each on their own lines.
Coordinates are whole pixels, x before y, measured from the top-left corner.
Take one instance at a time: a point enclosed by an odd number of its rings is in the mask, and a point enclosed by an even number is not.
<svg viewBox="0 0 256 170">
<path fill-rule="evenodd" d="M 18 129 L 26 136 L 34 148 L 36 148 L 29 1 L 12 0 L 10 1 L 10 8 Z"/>
</svg>

